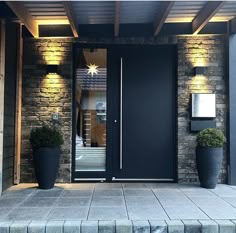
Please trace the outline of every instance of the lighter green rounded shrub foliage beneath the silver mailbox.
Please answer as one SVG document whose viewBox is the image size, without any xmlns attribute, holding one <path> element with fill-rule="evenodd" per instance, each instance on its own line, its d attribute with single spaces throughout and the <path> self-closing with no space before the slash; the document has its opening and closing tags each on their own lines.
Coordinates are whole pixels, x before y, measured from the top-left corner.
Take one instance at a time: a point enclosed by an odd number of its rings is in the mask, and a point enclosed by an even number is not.
<svg viewBox="0 0 236 233">
<path fill-rule="evenodd" d="M 197 135 L 197 144 L 201 147 L 223 147 L 225 142 L 226 138 L 219 129 L 204 129 Z"/>
</svg>

